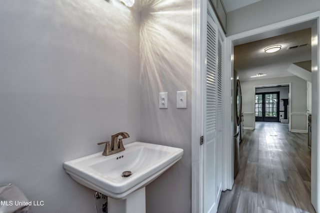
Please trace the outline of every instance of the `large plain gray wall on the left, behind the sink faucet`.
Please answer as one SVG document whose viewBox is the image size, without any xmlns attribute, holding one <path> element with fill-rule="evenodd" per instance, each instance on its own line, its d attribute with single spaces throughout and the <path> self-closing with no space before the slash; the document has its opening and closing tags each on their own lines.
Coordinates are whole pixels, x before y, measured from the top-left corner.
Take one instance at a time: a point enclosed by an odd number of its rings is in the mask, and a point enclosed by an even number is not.
<svg viewBox="0 0 320 213">
<path fill-rule="evenodd" d="M 43 200 L 34 213 L 94 213 L 62 163 L 102 152 L 112 133 L 137 140 L 135 14 L 118 1 L 1 1 L 0 184 Z"/>
</svg>

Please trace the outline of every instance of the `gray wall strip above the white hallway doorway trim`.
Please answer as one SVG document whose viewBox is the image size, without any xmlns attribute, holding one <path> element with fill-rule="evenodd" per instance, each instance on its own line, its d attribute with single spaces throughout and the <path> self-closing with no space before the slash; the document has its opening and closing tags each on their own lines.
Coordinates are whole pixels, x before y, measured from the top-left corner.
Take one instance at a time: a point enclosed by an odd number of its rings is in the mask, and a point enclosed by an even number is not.
<svg viewBox="0 0 320 213">
<path fill-rule="evenodd" d="M 318 10 L 319 0 L 261 0 L 227 13 L 227 35 Z"/>
</svg>

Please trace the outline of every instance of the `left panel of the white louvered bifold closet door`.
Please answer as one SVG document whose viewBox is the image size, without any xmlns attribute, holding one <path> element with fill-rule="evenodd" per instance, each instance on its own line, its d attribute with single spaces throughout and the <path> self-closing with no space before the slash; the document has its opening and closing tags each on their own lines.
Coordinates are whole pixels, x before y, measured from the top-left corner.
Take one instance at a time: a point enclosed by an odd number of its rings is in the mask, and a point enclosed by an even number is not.
<svg viewBox="0 0 320 213">
<path fill-rule="evenodd" d="M 216 203 L 216 107 L 217 107 L 217 26 L 207 16 L 206 74 L 203 135 L 203 212 L 215 213 Z"/>
</svg>

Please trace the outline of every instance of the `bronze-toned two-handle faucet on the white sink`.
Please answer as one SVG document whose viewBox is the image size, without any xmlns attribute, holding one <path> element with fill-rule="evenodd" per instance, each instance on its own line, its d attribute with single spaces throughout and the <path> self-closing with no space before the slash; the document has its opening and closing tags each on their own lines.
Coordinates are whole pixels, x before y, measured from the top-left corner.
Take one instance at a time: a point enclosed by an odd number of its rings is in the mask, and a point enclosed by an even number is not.
<svg viewBox="0 0 320 213">
<path fill-rule="evenodd" d="M 119 136 L 121 136 L 122 138 L 118 139 Z M 111 145 L 109 141 L 98 143 L 98 145 L 105 144 L 102 155 L 108 156 L 108 155 L 112 155 L 112 154 L 124 151 L 122 139 L 129 138 L 129 137 L 130 137 L 129 134 L 127 134 L 126 132 L 119 132 L 114 135 L 111 135 Z"/>
</svg>

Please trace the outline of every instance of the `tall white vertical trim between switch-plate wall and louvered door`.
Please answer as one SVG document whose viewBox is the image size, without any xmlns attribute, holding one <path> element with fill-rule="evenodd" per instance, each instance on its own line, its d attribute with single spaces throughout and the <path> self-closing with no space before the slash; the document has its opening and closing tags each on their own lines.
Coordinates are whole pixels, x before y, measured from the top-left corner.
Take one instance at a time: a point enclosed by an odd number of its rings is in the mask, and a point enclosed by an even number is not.
<svg viewBox="0 0 320 213">
<path fill-rule="evenodd" d="M 205 11 L 205 12 L 203 12 Z M 201 72 L 204 70 L 204 42 L 206 35 L 206 1 L 192 0 L 192 100 L 191 100 L 191 212 L 201 213 L 202 191 L 200 174 L 200 137 L 202 133 L 203 83 Z"/>
</svg>

